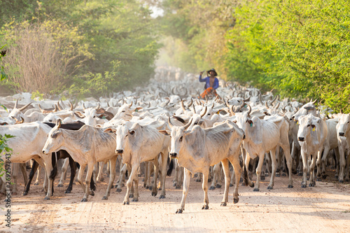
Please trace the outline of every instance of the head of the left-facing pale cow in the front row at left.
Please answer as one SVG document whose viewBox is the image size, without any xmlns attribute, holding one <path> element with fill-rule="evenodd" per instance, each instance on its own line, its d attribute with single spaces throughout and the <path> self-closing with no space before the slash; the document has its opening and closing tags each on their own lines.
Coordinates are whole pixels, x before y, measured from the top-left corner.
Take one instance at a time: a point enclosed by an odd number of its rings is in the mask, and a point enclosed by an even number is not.
<svg viewBox="0 0 350 233">
<path fill-rule="evenodd" d="M 57 120 L 55 127 L 53 127 L 48 133 L 48 139 L 46 139 L 45 146 L 43 147 L 43 153 L 48 154 L 59 150 L 63 144 L 61 120 Z"/>
</svg>

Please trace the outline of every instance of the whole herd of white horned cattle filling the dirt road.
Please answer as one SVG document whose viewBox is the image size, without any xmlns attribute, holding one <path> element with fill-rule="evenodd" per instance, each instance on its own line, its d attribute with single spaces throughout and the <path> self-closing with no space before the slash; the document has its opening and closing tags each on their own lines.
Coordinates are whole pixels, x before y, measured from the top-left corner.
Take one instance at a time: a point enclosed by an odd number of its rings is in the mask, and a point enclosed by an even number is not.
<svg viewBox="0 0 350 233">
<path fill-rule="evenodd" d="M 72 104 L 57 97 L 41 101 L 27 93 L 0 98 L 7 107 L 7 111 L 0 111 L 0 134 L 14 136 L 6 142 L 12 148 L 12 182 L 17 182 L 21 170 L 26 183 L 22 195 L 27 195 L 34 174 L 43 167 L 45 199 L 50 199 L 58 160 L 64 159 L 58 185 L 63 186 L 70 166 L 66 192 L 71 192 L 78 169 L 77 181 L 84 191 L 82 202 L 86 202 L 89 195 L 94 195 L 94 184 L 106 176 L 106 165 L 109 185 L 103 199 L 108 199 L 118 164 L 115 187 L 120 192 L 127 178 L 123 204 L 130 204 L 130 198 L 133 202 L 139 200 L 140 173 L 145 176 L 144 187 L 152 190 L 152 196 L 161 190 L 162 199 L 166 196 L 165 178 L 175 169 L 174 187 L 183 185 L 176 213 L 182 213 L 191 174 L 202 181 L 202 209 L 209 209 L 208 189 L 221 187 L 222 181 L 222 206 L 227 205 L 232 185 L 234 203 L 239 201 L 241 179 L 242 185 L 259 191 L 260 180 L 270 174 L 267 189 L 272 190 L 274 177 L 288 173 L 287 187 L 293 188 L 292 174 L 296 173 L 302 176 L 302 188 L 308 181 L 313 187 L 315 181 L 326 178 L 326 167 L 332 165 L 339 182 L 349 181 L 349 114 L 330 114 L 329 108 L 316 107 L 316 100 L 307 104 L 281 100 L 272 92 L 262 94 L 254 87 L 223 80 L 218 97 L 198 99 L 201 87 L 193 74 L 176 76 L 167 69 L 158 69 L 148 86 L 137 87 L 134 92 L 111 93 L 99 100 L 87 98 Z M 1 153 L 3 160 L 5 154 Z M 251 181 L 254 169 L 255 185 Z M 5 192 L 9 189 L 6 176 L 1 178 L 1 191 Z M 13 192 L 17 189 L 14 186 Z"/>
</svg>

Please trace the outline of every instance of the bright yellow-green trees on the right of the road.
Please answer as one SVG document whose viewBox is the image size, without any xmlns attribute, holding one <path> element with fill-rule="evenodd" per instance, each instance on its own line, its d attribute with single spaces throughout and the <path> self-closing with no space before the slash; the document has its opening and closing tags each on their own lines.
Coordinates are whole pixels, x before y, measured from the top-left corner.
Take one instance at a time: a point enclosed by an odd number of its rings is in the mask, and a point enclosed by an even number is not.
<svg viewBox="0 0 350 233">
<path fill-rule="evenodd" d="M 350 111 L 348 1 L 246 1 L 235 17 L 230 77 Z"/>
</svg>

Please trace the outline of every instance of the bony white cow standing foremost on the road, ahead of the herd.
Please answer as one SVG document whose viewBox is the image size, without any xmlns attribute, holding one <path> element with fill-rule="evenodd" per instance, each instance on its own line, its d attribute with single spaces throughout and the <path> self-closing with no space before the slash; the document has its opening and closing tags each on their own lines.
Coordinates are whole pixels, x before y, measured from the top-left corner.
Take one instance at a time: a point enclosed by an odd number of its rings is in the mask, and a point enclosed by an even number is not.
<svg viewBox="0 0 350 233">
<path fill-rule="evenodd" d="M 228 202 L 228 189 L 230 186 L 230 171 L 228 161 L 232 163 L 236 173 L 236 183 L 234 191 L 234 203 L 237 203 L 239 177 L 241 167 L 239 166 L 239 147 L 244 138 L 244 132 L 237 125 L 230 121 L 219 123 L 215 127 L 202 129 L 195 125 L 192 130 L 186 130 L 191 125 L 176 127 L 172 125 L 169 118 L 169 126 L 172 132 L 162 130 L 162 134 L 172 136 L 172 146 L 169 155 L 177 158 L 179 165 L 185 168 L 183 180 L 183 196 L 180 209 L 176 213 L 183 213 L 185 209 L 188 187 L 190 185 L 190 174 L 202 172 L 204 190 L 204 205 L 202 209 L 209 209 L 208 199 L 208 176 L 209 167 L 222 162 L 225 172 L 225 193 L 221 206 L 226 206 Z"/>
</svg>

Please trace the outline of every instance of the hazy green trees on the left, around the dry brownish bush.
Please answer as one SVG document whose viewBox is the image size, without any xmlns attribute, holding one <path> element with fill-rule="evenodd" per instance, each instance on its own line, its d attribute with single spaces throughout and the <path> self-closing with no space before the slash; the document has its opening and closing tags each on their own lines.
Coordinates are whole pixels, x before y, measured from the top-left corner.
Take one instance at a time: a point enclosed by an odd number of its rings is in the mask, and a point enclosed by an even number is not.
<svg viewBox="0 0 350 233">
<path fill-rule="evenodd" d="M 2 34 L 7 42 L 22 18 L 30 18 L 26 22 L 45 27 L 50 38 L 59 41 L 63 69 L 51 69 L 58 84 L 36 89 L 39 92 L 69 90 L 79 96 L 100 95 L 140 85 L 151 77 L 160 44 L 151 11 L 140 1 L 43 0 L 30 7 L 25 12 L 31 14 L 22 12 L 22 16 L 15 14 L 13 20 L 6 20 Z M 16 45 L 8 44 L 10 48 Z M 10 80 L 18 67 L 9 69 Z M 10 84 L 19 89 L 18 83 Z"/>
</svg>

